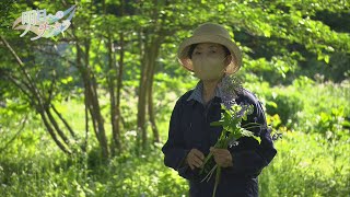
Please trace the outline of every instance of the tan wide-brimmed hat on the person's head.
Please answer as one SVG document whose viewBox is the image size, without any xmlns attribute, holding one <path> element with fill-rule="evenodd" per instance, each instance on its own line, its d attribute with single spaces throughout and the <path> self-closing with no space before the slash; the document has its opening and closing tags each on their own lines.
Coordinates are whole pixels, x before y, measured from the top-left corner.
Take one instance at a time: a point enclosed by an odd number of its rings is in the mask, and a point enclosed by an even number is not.
<svg viewBox="0 0 350 197">
<path fill-rule="evenodd" d="M 242 54 L 237 45 L 231 39 L 229 32 L 221 25 L 214 23 L 205 23 L 194 31 L 191 37 L 186 38 L 178 47 L 177 58 L 182 66 L 187 70 L 194 71 L 192 61 L 188 56 L 192 44 L 217 43 L 225 46 L 233 56 L 232 61 L 226 68 L 226 74 L 235 73 L 242 65 Z"/>
</svg>

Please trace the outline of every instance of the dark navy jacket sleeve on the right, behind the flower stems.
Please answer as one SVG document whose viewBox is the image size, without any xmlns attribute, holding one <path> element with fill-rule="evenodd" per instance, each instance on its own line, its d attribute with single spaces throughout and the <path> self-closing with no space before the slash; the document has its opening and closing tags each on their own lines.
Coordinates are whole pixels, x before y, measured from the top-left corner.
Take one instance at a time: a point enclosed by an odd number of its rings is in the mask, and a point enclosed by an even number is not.
<svg viewBox="0 0 350 197">
<path fill-rule="evenodd" d="M 267 123 L 260 102 L 253 102 L 254 113 L 248 116 L 247 123 L 258 123 L 261 127 L 248 129 L 259 136 L 260 143 L 253 138 L 241 138 L 237 146 L 229 147 L 232 154 L 233 166 L 226 167 L 226 173 L 244 174 L 248 176 L 258 176 L 261 170 L 267 166 L 275 158 L 277 150 L 267 128 Z"/>
</svg>

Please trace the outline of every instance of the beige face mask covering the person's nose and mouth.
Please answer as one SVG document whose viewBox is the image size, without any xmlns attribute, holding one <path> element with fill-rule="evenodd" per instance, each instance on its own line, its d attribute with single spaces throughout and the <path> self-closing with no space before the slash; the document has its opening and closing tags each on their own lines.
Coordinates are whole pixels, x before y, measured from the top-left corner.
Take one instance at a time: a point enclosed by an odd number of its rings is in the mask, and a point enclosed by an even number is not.
<svg viewBox="0 0 350 197">
<path fill-rule="evenodd" d="M 218 80 L 224 74 L 225 65 L 222 57 L 194 58 L 195 76 L 201 80 Z"/>
</svg>

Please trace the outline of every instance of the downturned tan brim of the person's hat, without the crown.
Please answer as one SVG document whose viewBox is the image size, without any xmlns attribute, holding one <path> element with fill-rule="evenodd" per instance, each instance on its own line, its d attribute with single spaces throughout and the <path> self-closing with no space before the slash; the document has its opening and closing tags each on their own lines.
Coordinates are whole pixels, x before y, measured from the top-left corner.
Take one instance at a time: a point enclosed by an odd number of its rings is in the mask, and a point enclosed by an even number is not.
<svg viewBox="0 0 350 197">
<path fill-rule="evenodd" d="M 177 58 L 178 61 L 183 67 L 185 67 L 187 70 L 194 72 L 194 66 L 192 61 L 190 60 L 188 56 L 188 51 L 190 48 L 190 45 L 192 44 L 199 44 L 199 43 L 217 43 L 220 45 L 225 46 L 231 55 L 233 56 L 232 61 L 226 68 L 226 73 L 232 74 L 240 70 L 242 65 L 242 54 L 237 45 L 232 42 L 231 39 L 228 39 L 225 37 L 222 37 L 220 35 L 200 35 L 200 36 L 192 36 L 187 39 L 185 39 L 178 47 L 177 50 Z"/>
</svg>

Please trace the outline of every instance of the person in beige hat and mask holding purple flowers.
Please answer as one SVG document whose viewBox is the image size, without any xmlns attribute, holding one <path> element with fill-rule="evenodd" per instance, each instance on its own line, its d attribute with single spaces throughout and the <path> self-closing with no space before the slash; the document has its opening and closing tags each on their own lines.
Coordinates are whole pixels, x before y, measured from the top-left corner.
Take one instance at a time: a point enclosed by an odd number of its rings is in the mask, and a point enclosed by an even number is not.
<svg viewBox="0 0 350 197">
<path fill-rule="evenodd" d="M 217 196 L 258 196 L 257 176 L 277 153 L 270 131 L 266 127 L 252 129 L 260 137 L 260 143 L 253 138 L 241 138 L 237 146 L 217 149 L 213 144 L 222 127 L 209 125 L 220 119 L 220 104 L 224 102 L 221 83 L 226 76 L 240 70 L 241 50 L 224 27 L 206 23 L 179 45 L 178 59 L 200 81 L 195 90 L 178 99 L 173 109 L 168 139 L 162 149 L 165 165 L 189 181 L 190 196 L 211 196 L 214 177 L 201 182 L 203 175 L 199 174 L 199 167 L 205 157 L 212 152 L 214 162 L 222 169 Z M 250 92 L 236 91 L 231 100 L 254 106 L 246 123 L 266 126 L 262 107 Z"/>
</svg>

